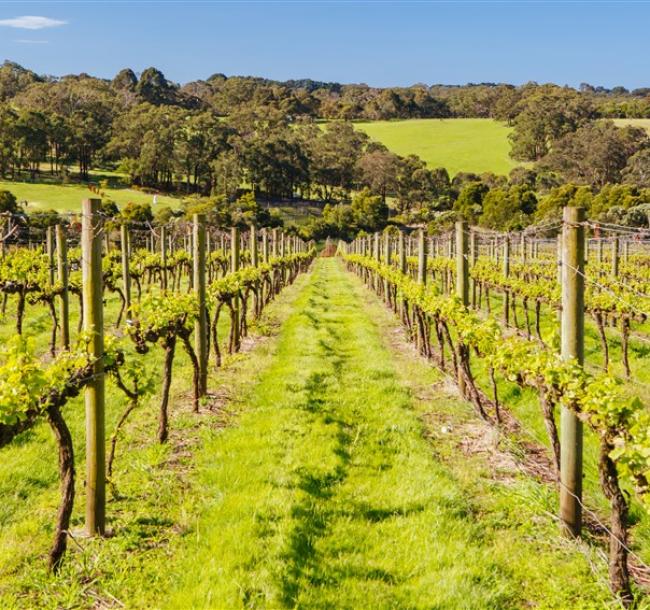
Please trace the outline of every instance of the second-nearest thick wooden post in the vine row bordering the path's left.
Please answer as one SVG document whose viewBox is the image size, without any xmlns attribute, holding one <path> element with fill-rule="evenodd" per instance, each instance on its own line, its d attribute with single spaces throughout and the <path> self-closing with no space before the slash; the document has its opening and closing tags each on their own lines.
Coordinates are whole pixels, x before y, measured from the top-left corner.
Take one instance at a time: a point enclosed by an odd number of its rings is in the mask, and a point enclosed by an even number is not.
<svg viewBox="0 0 650 610">
<path fill-rule="evenodd" d="M 208 308 L 205 284 L 205 215 L 194 214 L 192 260 L 194 263 L 194 294 L 198 301 L 198 316 L 194 325 L 194 350 L 199 361 L 199 396 L 208 391 Z"/>
</svg>

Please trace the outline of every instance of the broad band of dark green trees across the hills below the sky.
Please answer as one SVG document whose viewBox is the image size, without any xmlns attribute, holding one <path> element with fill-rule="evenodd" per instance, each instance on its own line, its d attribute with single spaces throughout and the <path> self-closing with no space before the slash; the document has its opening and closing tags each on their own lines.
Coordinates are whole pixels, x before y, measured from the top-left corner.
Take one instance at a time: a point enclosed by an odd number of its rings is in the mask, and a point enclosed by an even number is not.
<svg viewBox="0 0 650 610">
<path fill-rule="evenodd" d="M 325 100 L 344 99 L 357 100 L 346 102 L 353 110 L 327 109 Z M 214 75 L 179 86 L 154 68 L 139 77 L 122 70 L 112 80 L 53 78 L 5 62 L 0 176 L 74 179 L 69 172 L 76 165 L 78 176 L 88 180 L 92 168 L 114 168 L 138 188 L 191 196 L 185 210 L 201 206 L 226 224 L 246 215 L 280 222 L 255 200 L 297 197 L 328 204 L 322 218 L 301 229 L 306 238 L 349 237 L 389 221 L 445 226 L 458 215 L 499 230 L 519 228 L 557 215 L 553 202 L 575 204 L 574 197 L 589 206 L 596 202 L 592 218 L 646 226 L 650 140 L 641 129 L 603 118 L 625 114 L 612 110 L 621 100 L 643 105 L 646 99 L 646 89 L 534 83 L 373 89 Z M 393 110 L 376 113 L 382 100 Z M 504 121 L 513 127 L 511 154 L 523 165 L 508 177 L 452 178 L 444 168 L 429 168 L 415 155 L 400 157 L 339 120 L 416 116 Z M 246 191 L 253 203 L 242 207 Z M 168 218 L 184 209 L 159 214 Z"/>
</svg>

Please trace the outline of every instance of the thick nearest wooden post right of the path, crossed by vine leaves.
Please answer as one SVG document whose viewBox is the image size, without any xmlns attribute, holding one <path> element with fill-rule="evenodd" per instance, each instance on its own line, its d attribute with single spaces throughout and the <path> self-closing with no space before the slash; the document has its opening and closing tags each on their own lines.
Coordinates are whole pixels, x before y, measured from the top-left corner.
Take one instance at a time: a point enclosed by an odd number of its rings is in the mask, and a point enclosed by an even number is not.
<svg viewBox="0 0 650 610">
<path fill-rule="evenodd" d="M 564 208 L 562 229 L 562 358 L 584 364 L 585 211 Z M 582 527 L 582 422 L 570 405 L 560 417 L 560 518 L 564 531 Z"/>
</svg>

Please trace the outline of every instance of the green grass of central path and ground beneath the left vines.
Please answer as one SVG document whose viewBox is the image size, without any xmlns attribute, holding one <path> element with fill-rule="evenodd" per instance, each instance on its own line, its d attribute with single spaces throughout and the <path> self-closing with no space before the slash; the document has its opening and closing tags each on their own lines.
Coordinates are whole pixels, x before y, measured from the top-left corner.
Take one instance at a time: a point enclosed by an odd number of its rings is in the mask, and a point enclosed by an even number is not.
<svg viewBox="0 0 650 610">
<path fill-rule="evenodd" d="M 118 457 L 115 536 L 73 545 L 58 578 L 49 431 L 0 450 L 0 607 L 615 607 L 602 559 L 558 535 L 555 492 L 465 455 L 471 408 L 394 328 L 319 259 L 258 325 L 274 336 L 212 373 L 198 417 L 181 358 L 171 442 L 154 441 L 154 398 Z M 67 413 L 82 479 L 81 401 Z"/>
</svg>

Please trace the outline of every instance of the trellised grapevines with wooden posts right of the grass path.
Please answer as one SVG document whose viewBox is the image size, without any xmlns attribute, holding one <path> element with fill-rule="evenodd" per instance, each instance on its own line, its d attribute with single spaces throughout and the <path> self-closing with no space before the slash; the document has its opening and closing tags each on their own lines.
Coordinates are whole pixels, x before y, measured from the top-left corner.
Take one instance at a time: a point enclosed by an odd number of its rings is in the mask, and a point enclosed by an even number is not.
<svg viewBox="0 0 650 610">
<path fill-rule="evenodd" d="M 458 222 L 455 234 L 444 239 L 427 239 L 423 230 L 419 231 L 417 239 L 407 239 L 400 231 L 395 244 L 392 234 L 387 232 L 383 240 L 378 234 L 360 237 L 351 244 L 341 242 L 339 249 L 348 268 L 361 276 L 400 317 L 419 351 L 454 375 L 462 395 L 474 404 L 483 419 L 497 426 L 503 423 L 502 409 L 505 405 L 499 400 L 497 375 L 538 394 L 553 449 L 560 489 L 561 522 L 564 530 L 574 536 L 581 531 L 583 507 L 582 423 L 594 431 L 600 445 L 600 483 L 611 508 L 608 528 L 610 584 L 620 599 L 629 604 L 632 593 L 628 566 L 629 500 L 626 493 L 634 490 L 646 506 L 650 503 L 647 493 L 650 411 L 638 397 L 630 396 L 624 383 L 610 372 L 588 370 L 583 354 L 584 313 L 591 313 L 606 300 L 608 316 L 631 323 L 633 320 L 644 321 L 641 312 L 648 311 L 648 308 L 644 300 L 636 301 L 640 304 L 636 311 L 634 307 L 623 308 L 625 303 L 635 303 L 632 295 L 628 292 L 621 297 L 621 292 L 615 292 L 612 297 L 607 292 L 611 284 L 600 282 L 604 273 L 602 252 L 599 254 L 600 266 L 595 271 L 585 268 L 588 258 L 585 233 L 589 223 L 583 214 L 580 209 L 565 209 L 558 240 L 561 249 L 556 250 L 559 260 L 550 263 L 554 275 L 537 278 L 534 284 L 525 279 L 510 281 L 513 271 L 526 278 L 525 274 L 538 273 L 539 267 L 548 260 L 534 252 L 528 269 L 525 236 L 521 239 L 523 260 L 515 270 L 509 260 L 514 236 L 498 236 L 503 247 L 497 248 L 491 235 L 487 257 L 481 260 L 476 242 L 478 231 L 470 229 L 465 222 Z M 446 246 L 446 256 L 440 256 L 441 244 Z M 416 248 L 417 256 L 411 257 Z M 498 250 L 502 252 L 500 261 L 495 260 Z M 617 252 L 618 246 L 612 248 L 613 266 L 618 266 Z M 434 257 L 429 260 L 430 253 Z M 639 263 L 628 273 L 641 275 L 637 289 L 643 295 L 647 293 L 650 282 L 643 283 L 643 278 L 647 280 L 648 276 L 643 276 L 640 270 L 648 268 L 645 263 L 650 263 L 650 257 L 635 256 L 644 264 Z M 535 262 L 537 258 L 539 264 Z M 556 263 L 559 263 L 560 277 L 555 269 Z M 628 261 L 624 264 L 627 265 Z M 505 278 L 502 282 L 494 278 L 496 266 Z M 486 268 L 491 270 L 489 275 Z M 618 268 L 619 274 L 622 268 L 623 265 Z M 594 272 L 598 278 L 597 293 L 589 288 Z M 546 280 L 552 288 L 545 285 Z M 500 286 L 503 291 L 504 319 L 496 319 L 493 312 L 489 309 L 485 312 L 479 306 L 479 291 L 495 286 Z M 518 323 L 510 324 L 513 312 L 513 321 L 516 321 L 516 298 L 520 301 L 534 299 L 537 304 L 546 302 L 554 311 L 562 312 L 561 351 L 543 343 L 539 330 L 539 337 L 534 338 L 529 325 L 522 332 Z M 624 303 L 621 303 L 621 298 Z M 539 315 L 537 310 L 538 329 Z M 477 367 L 474 357 L 482 363 L 481 367 Z M 484 370 L 487 370 L 486 374 Z M 626 372 L 629 376 L 629 369 Z M 484 375 L 487 376 L 483 378 Z M 562 411 L 559 431 L 556 420 L 558 406 Z"/>
</svg>

